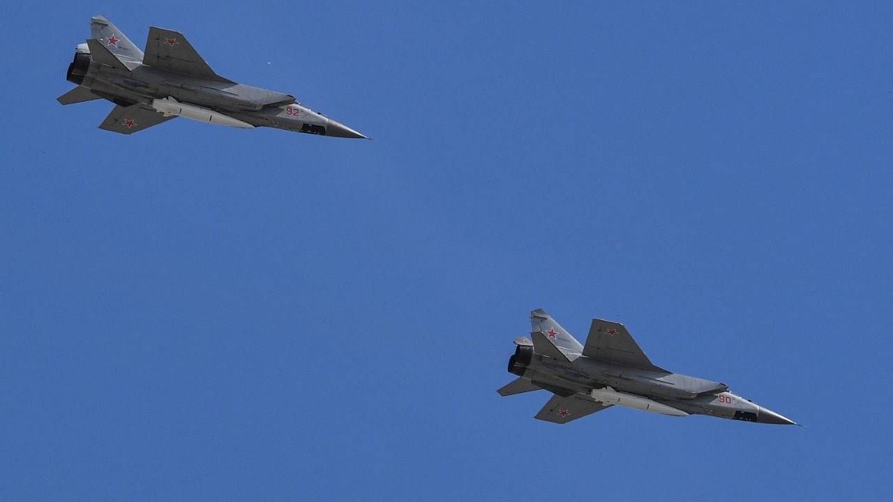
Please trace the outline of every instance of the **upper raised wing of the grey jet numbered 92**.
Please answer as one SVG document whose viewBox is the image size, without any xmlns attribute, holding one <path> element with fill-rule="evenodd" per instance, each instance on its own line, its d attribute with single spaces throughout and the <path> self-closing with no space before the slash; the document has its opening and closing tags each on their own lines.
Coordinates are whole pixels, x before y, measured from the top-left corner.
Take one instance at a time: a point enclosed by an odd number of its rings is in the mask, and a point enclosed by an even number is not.
<svg viewBox="0 0 893 502">
<path fill-rule="evenodd" d="M 171 29 L 149 28 L 143 64 L 202 79 L 230 81 L 214 73 L 186 37 Z"/>
</svg>

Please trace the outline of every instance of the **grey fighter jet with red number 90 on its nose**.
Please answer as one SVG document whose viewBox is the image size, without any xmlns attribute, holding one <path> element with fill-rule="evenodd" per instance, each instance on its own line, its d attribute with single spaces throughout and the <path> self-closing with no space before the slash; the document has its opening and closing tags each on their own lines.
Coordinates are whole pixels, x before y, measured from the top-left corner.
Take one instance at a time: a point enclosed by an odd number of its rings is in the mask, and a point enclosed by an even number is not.
<svg viewBox="0 0 893 502">
<path fill-rule="evenodd" d="M 724 383 L 655 366 L 619 322 L 593 319 L 585 346 L 541 309 L 530 313 L 530 322 L 533 340 L 514 340 L 517 347 L 508 360 L 508 371 L 518 378 L 498 392 L 512 396 L 546 389 L 555 394 L 539 410 L 539 420 L 568 423 L 616 405 L 673 416 L 798 425 L 732 394 Z"/>
</svg>

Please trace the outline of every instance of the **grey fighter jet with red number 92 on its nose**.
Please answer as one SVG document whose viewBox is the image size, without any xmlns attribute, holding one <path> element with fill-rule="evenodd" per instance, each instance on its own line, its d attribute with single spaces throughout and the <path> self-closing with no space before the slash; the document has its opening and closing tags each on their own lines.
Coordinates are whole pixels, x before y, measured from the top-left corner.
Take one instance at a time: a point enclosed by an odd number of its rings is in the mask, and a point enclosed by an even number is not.
<svg viewBox="0 0 893 502">
<path fill-rule="evenodd" d="M 274 127 L 338 138 L 366 138 L 313 112 L 295 96 L 253 88 L 215 73 L 182 33 L 149 28 L 146 53 L 112 22 L 96 16 L 66 79 L 78 87 L 58 97 L 71 105 L 104 98 L 116 106 L 100 129 L 133 134 L 176 117 L 238 128 Z"/>
</svg>

